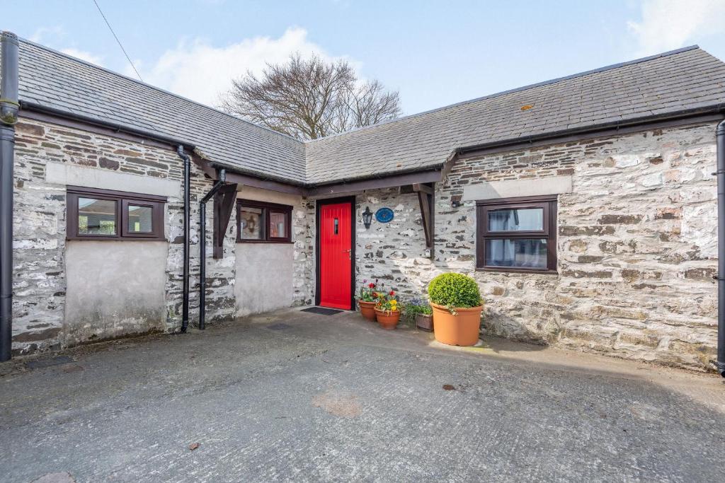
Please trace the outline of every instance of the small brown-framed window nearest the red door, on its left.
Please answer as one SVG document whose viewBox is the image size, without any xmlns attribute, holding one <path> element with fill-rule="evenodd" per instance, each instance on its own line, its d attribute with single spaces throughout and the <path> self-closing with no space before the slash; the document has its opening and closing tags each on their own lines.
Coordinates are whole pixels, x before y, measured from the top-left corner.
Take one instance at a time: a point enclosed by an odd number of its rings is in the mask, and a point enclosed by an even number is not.
<svg viewBox="0 0 725 483">
<path fill-rule="evenodd" d="M 236 202 L 236 241 L 291 243 L 292 207 L 264 201 Z"/>
</svg>

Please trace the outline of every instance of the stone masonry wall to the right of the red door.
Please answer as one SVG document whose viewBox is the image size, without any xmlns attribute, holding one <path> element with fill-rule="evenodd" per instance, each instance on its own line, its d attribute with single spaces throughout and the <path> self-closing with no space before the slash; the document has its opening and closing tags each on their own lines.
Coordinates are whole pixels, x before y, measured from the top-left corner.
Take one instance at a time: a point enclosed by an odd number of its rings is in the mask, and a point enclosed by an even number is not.
<svg viewBox="0 0 725 483">
<path fill-rule="evenodd" d="M 407 298 L 423 294 L 436 274 L 463 272 L 481 287 L 486 332 L 707 369 L 717 335 L 714 128 L 649 130 L 459 161 L 436 191 L 432 260 L 423 258 L 415 195 L 360 193 L 357 220 L 365 206 L 389 206 L 395 218 L 373 220 L 370 230 L 358 221 L 357 282 L 378 278 Z M 558 199 L 558 274 L 476 272 L 475 201 L 452 208 L 450 197 L 481 180 L 561 175 L 571 175 L 573 193 Z"/>
</svg>

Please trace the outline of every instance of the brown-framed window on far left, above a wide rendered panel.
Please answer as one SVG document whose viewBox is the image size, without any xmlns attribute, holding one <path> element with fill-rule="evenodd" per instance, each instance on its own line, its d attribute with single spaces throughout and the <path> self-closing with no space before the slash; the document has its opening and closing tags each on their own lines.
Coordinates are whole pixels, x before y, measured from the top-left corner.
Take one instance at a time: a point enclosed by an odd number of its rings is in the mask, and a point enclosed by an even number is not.
<svg viewBox="0 0 725 483">
<path fill-rule="evenodd" d="M 67 188 L 68 240 L 165 240 L 165 196 Z"/>
</svg>

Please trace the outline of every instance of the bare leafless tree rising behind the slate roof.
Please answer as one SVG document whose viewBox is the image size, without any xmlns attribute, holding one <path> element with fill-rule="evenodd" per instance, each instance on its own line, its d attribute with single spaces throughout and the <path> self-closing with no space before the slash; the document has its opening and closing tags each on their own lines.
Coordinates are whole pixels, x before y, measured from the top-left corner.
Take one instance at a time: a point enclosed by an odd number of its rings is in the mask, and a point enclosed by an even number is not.
<svg viewBox="0 0 725 483">
<path fill-rule="evenodd" d="M 317 139 L 363 127 L 401 113 L 397 91 L 377 80 L 362 83 L 346 61 L 295 54 L 232 81 L 220 98 L 225 112 L 299 139 Z"/>
</svg>

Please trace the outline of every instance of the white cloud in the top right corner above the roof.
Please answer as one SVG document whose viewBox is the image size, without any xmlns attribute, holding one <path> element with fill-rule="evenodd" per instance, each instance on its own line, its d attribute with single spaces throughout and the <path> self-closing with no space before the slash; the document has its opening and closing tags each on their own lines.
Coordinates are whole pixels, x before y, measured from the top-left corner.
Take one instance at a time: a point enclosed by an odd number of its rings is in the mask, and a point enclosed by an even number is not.
<svg viewBox="0 0 725 483">
<path fill-rule="evenodd" d="M 658 54 L 725 30 L 724 0 L 644 0 L 642 20 L 629 21 L 637 56 Z"/>
</svg>

